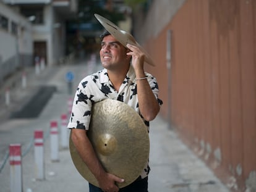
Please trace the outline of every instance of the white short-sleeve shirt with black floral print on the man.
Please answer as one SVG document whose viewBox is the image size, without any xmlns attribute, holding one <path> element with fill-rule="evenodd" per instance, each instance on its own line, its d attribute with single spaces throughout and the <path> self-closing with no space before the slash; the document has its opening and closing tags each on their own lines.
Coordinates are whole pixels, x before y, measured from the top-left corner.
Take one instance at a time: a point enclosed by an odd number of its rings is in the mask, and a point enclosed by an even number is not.
<svg viewBox="0 0 256 192">
<path fill-rule="evenodd" d="M 156 99 L 158 99 L 158 84 L 155 77 L 153 77 L 150 73 L 145 73 L 145 75 L 147 76 L 151 90 L 155 94 Z M 114 99 L 124 102 L 140 114 L 139 102 L 137 98 L 137 84 L 132 65 L 130 65 L 126 78 L 122 82 L 118 92 L 114 89 L 114 86 L 109 80 L 106 69 L 100 70 L 83 78 L 80 81 L 75 93 L 72 113 L 67 127 L 88 130 L 93 103 L 102 101 L 104 99 Z M 160 99 L 158 99 L 158 102 L 160 105 L 162 104 Z M 140 117 L 142 117 L 142 115 L 140 115 Z M 145 120 L 144 122 L 149 131 L 149 122 Z M 149 172 L 150 167 L 147 163 L 140 176 L 145 178 Z"/>
</svg>

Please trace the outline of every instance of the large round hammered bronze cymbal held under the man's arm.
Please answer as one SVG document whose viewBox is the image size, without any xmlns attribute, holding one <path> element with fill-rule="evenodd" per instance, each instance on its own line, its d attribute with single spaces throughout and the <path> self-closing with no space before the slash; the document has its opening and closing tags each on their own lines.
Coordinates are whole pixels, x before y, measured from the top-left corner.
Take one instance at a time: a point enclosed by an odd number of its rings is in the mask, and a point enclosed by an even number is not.
<svg viewBox="0 0 256 192">
<path fill-rule="evenodd" d="M 75 167 L 88 182 L 98 186 L 94 175 L 82 161 L 69 138 L 69 148 Z M 106 172 L 124 178 L 119 188 L 139 177 L 147 164 L 150 142 L 147 127 L 140 115 L 124 102 L 106 99 L 93 104 L 90 139 Z"/>
</svg>

